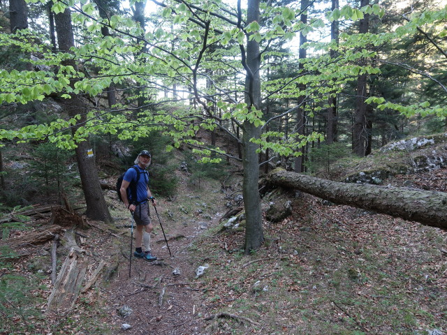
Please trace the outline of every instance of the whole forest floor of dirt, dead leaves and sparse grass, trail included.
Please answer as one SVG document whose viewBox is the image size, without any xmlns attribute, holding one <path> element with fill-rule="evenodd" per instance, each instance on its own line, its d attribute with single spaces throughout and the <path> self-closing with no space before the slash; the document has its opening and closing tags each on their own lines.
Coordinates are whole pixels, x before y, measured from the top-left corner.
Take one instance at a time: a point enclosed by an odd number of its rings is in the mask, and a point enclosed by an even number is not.
<svg viewBox="0 0 447 335">
<path fill-rule="evenodd" d="M 437 170 L 397 176 L 387 184 L 411 181 L 446 191 L 446 176 L 447 170 Z M 237 192 L 237 181 L 232 186 Z M 159 260 L 132 258 L 129 276 L 130 216 L 114 191 L 105 195 L 115 223 L 91 222 L 77 237 L 87 274 L 106 263 L 102 280 L 73 308 L 45 314 L 52 289 L 50 244 L 29 249 L 10 266 L 2 265 L 1 276 L 5 285 L 6 274 L 34 280 L 40 275 L 30 291 L 36 313 L 14 306 L 13 296 L 1 300 L 11 304 L 2 302 L 7 309 L 0 310 L 0 334 L 447 332 L 446 231 L 273 191 L 263 206 L 291 200 L 293 214 L 279 223 L 265 221 L 265 244 L 246 256 L 244 232 L 221 230 L 219 218 L 228 210 L 221 185 L 202 181 L 199 188 L 185 179 L 174 200 L 160 198 L 156 207 L 172 256 L 152 210 L 152 251 Z M 58 253 L 60 266 L 68 251 L 59 246 Z M 203 265 L 209 267 L 196 276 Z M 124 324 L 131 328 L 123 330 Z"/>
</svg>

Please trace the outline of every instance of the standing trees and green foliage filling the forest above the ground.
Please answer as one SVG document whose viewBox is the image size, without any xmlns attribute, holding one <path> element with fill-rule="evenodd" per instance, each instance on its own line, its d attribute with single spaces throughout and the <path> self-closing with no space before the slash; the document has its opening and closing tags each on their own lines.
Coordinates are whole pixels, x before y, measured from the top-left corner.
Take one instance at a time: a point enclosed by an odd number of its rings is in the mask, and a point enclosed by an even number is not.
<svg viewBox="0 0 447 335">
<path fill-rule="evenodd" d="M 87 217 L 111 222 L 102 167 L 126 166 L 139 149 L 161 158 L 189 147 L 191 162 L 242 165 L 249 254 L 264 240 L 252 192 L 261 173 L 282 165 L 329 177 L 336 159 L 446 131 L 443 1 L 1 6 L 7 212 L 60 201 L 62 191 L 71 198 L 80 185 Z M 219 137 L 231 144 L 217 147 Z M 25 166 L 27 155 L 34 162 Z M 29 173 L 3 163 L 17 160 Z M 159 162 L 162 182 L 170 170 Z M 154 188 L 174 192 L 166 182 Z"/>
</svg>

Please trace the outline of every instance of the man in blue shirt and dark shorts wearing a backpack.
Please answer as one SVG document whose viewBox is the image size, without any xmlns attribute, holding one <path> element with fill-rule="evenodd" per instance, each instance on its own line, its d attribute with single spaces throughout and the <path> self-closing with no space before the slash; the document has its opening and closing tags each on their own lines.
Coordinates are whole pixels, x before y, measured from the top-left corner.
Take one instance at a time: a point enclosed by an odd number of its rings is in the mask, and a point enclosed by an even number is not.
<svg viewBox="0 0 447 335">
<path fill-rule="evenodd" d="M 156 206 L 156 201 L 155 198 L 152 197 L 152 193 L 149 190 L 149 173 L 146 171 L 146 168 L 151 163 L 151 154 L 147 150 L 142 150 L 140 154 L 138 154 L 137 158 L 135 158 L 134 163 L 135 165 L 129 168 L 129 170 L 127 170 L 124 174 L 119 191 L 124 204 L 131 211 L 133 219 L 136 223 L 135 252 L 133 255 L 152 262 L 156 260 L 156 257 L 151 254 L 151 249 L 149 246 L 150 233 L 154 229 L 154 226 L 152 225 L 149 217 L 148 200 L 152 201 L 152 206 Z M 136 180 L 137 176 L 139 176 L 138 180 Z M 136 183 L 136 192 L 128 193 L 127 188 L 131 185 L 131 181 L 135 181 Z M 136 194 L 136 199 L 132 198 L 132 193 L 133 195 Z"/>
</svg>

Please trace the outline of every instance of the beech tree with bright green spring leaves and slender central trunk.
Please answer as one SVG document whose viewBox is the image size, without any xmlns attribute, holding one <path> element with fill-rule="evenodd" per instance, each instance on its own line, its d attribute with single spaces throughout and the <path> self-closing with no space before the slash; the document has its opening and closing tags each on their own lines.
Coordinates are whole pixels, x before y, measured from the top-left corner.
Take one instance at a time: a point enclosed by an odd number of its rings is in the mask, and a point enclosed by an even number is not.
<svg viewBox="0 0 447 335">
<path fill-rule="evenodd" d="M 2 70 L 0 101 L 26 103 L 43 100 L 49 94 L 59 94 L 67 102 L 76 101 L 81 94 L 100 99 L 112 84 L 122 93 L 112 109 L 82 106 L 77 111 L 71 109 L 68 119 L 22 129 L 3 129 L 0 138 L 3 144 L 47 138 L 61 147 L 73 148 L 84 145 L 84 140 L 92 134 L 111 133 L 129 140 L 160 131 L 173 139 L 168 150 L 186 144 L 203 157 L 203 162 L 212 163 L 221 157 L 240 159 L 220 148 L 207 147 L 196 137 L 200 129 L 224 132 L 242 147 L 242 192 L 247 215 L 244 247 L 249 253 L 263 241 L 257 187 L 259 167 L 265 162 L 258 161 L 259 154 L 268 150 L 269 159 L 293 158 L 301 154 L 300 149 L 307 142 L 322 138 L 318 133 L 287 133 L 284 127 L 272 127 L 274 122 L 291 119 L 289 116 L 310 103 L 316 112 L 326 110 L 329 96 L 339 94 L 360 73 L 379 73 L 379 68 L 358 64 L 359 59 L 376 57 L 376 51 L 370 52 L 365 46 L 389 43 L 401 33 L 340 34 L 339 45 L 329 46 L 308 41 L 302 47 L 314 50 L 316 56 L 307 57 L 298 73 L 266 81 L 263 78 L 267 68 L 270 73 L 291 72 L 288 62 L 266 61 L 267 50 L 270 54 L 279 52 L 269 49 L 273 42 L 292 41 L 298 34 L 324 29 L 323 17 L 312 17 L 307 24 L 302 22 L 301 9 L 296 3 L 269 6 L 260 0 L 250 0 L 244 10 L 240 1 L 237 8 L 221 1 L 200 5 L 182 0 L 152 2 L 160 8 L 156 24 L 146 22 L 142 27 L 132 17 L 101 17 L 93 4 L 73 1 L 70 3 L 73 22 L 89 43 L 70 45 L 65 52 L 54 54 L 42 45 L 22 40 L 22 48 L 43 54 L 36 64 L 54 66 L 58 71 Z M 67 8 L 68 3 L 57 2 L 52 9 L 59 14 Z M 383 10 L 377 5 L 344 6 L 328 13 L 327 19 L 352 22 L 365 14 L 382 15 Z M 270 20 L 268 25 L 266 18 Z M 104 27 L 111 34 L 103 34 Z M 13 41 L 0 36 L 0 43 Z M 330 48 L 337 51 L 335 59 L 328 52 Z M 290 52 L 281 57 L 296 60 L 296 55 Z M 82 68 L 66 63 L 72 59 L 79 61 Z M 144 101 L 135 104 L 141 96 L 145 97 Z M 286 99 L 293 103 L 281 114 L 266 113 L 265 101 Z M 366 102 L 376 108 L 393 107 L 408 113 L 437 112 L 427 105 L 392 106 L 381 97 L 371 97 Z"/>
</svg>

